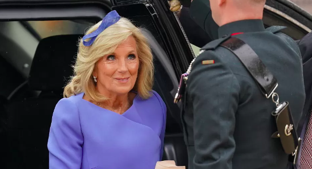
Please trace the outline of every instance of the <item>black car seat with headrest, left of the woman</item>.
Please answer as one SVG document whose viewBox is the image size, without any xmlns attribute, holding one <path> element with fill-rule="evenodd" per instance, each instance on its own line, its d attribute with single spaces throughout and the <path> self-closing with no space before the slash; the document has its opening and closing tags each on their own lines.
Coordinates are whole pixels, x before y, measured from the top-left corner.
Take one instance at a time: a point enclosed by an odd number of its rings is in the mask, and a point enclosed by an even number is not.
<svg viewBox="0 0 312 169">
<path fill-rule="evenodd" d="M 28 78 L 28 87 L 41 91 L 38 97 L 9 103 L 9 168 L 49 168 L 47 148 L 52 114 L 77 53 L 80 35 L 57 35 L 38 44 Z"/>
</svg>

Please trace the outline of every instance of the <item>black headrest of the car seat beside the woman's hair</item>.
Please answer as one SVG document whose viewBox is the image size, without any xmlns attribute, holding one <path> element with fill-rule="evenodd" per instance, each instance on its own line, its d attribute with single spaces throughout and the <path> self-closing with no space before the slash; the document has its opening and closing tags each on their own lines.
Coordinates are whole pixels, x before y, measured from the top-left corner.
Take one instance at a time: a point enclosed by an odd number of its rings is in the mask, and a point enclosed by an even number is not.
<svg viewBox="0 0 312 169">
<path fill-rule="evenodd" d="M 77 42 L 83 35 L 56 35 L 40 41 L 34 54 L 28 85 L 32 90 L 59 91 L 73 74 L 72 65 L 78 52 Z"/>
</svg>

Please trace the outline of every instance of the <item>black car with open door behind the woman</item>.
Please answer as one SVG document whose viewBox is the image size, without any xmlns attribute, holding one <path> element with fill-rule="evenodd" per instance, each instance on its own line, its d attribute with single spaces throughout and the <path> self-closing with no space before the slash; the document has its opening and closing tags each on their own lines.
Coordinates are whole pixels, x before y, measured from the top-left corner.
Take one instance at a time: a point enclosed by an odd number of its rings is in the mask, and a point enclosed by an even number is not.
<svg viewBox="0 0 312 169">
<path fill-rule="evenodd" d="M 49 168 L 51 118 L 72 75 L 77 40 L 111 10 L 145 28 L 153 90 L 168 112 L 163 160 L 187 166 L 181 105 L 173 98 L 200 47 L 189 43 L 191 33 L 166 0 L 0 0 L 0 168 Z M 312 29 L 312 16 L 288 0 L 267 0 L 263 22 L 287 26 L 284 33 L 295 40 Z"/>
</svg>

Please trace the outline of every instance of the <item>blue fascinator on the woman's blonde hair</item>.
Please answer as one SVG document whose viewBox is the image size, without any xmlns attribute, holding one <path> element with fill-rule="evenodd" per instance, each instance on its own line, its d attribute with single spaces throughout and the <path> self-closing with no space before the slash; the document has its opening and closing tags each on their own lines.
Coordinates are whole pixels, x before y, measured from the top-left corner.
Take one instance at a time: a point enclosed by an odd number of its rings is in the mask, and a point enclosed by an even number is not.
<svg viewBox="0 0 312 169">
<path fill-rule="evenodd" d="M 89 47 L 93 44 L 94 40 L 96 39 L 96 37 L 106 28 L 108 28 L 109 26 L 115 24 L 116 22 L 118 22 L 120 20 L 120 16 L 116 11 L 111 11 L 109 12 L 102 20 L 102 23 L 100 24 L 100 26 L 93 31 L 90 34 L 86 34 L 83 37 L 83 44 L 86 47 Z M 89 41 L 85 41 L 86 39 L 91 38 Z"/>
</svg>

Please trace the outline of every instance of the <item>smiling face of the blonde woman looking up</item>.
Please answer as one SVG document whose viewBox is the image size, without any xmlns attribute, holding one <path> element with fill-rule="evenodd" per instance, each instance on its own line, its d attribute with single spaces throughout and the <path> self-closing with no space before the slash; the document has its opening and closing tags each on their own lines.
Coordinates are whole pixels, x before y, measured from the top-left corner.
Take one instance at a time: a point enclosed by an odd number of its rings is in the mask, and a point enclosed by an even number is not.
<svg viewBox="0 0 312 169">
<path fill-rule="evenodd" d="M 109 55 L 96 63 L 93 75 L 97 89 L 104 95 L 122 95 L 130 92 L 138 76 L 139 58 L 136 41 L 129 36 Z"/>
</svg>

